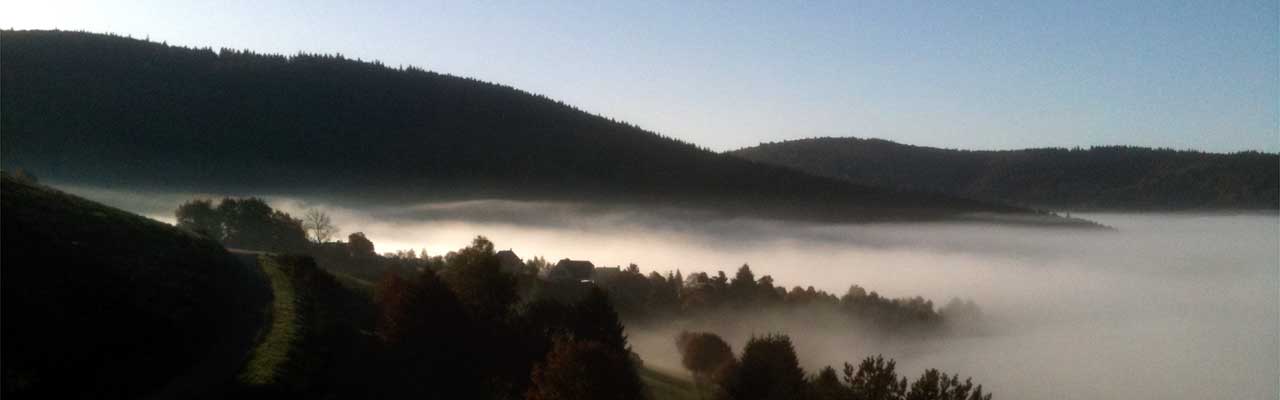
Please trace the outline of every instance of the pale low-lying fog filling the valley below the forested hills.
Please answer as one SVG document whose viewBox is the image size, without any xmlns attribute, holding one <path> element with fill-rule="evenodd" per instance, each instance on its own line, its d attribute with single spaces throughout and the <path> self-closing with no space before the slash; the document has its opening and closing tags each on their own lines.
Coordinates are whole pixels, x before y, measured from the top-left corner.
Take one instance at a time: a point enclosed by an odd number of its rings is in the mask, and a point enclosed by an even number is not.
<svg viewBox="0 0 1280 400">
<path fill-rule="evenodd" d="M 86 195 L 164 221 L 186 195 Z M 977 301 L 991 333 L 872 341 L 804 315 L 709 323 L 736 351 L 754 333 L 792 337 L 822 365 L 884 354 L 915 378 L 924 368 L 972 376 L 998 399 L 1277 399 L 1280 218 L 1275 214 L 1089 214 L 1116 232 L 977 224 L 812 224 L 714 219 L 664 210 L 614 213 L 567 204 L 470 201 L 352 209 L 274 197 L 293 214 L 325 209 L 342 235 L 365 232 L 379 251 L 466 245 L 476 235 L 524 258 L 636 263 L 756 277 L 837 295 L 851 283 L 887 296 Z M 634 327 L 649 365 L 678 371 L 673 335 Z"/>
</svg>

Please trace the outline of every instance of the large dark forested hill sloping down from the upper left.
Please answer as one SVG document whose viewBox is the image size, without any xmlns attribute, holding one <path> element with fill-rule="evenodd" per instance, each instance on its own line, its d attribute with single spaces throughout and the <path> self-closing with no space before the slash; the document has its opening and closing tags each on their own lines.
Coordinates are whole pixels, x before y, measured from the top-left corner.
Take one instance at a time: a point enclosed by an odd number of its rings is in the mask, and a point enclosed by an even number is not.
<svg viewBox="0 0 1280 400">
<path fill-rule="evenodd" d="M 844 221 L 1030 214 L 744 160 L 416 68 L 83 32 L 0 35 L 0 163 L 50 181 L 394 201 L 660 203 Z"/>
</svg>

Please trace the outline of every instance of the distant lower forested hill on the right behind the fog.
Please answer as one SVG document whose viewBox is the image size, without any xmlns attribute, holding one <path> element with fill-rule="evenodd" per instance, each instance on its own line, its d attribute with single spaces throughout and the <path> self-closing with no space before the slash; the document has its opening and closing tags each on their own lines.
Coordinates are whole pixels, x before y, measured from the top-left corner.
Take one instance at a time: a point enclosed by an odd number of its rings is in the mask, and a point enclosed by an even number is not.
<svg viewBox="0 0 1280 400">
<path fill-rule="evenodd" d="M 1132 146 L 966 151 L 823 137 L 731 151 L 749 160 L 901 190 L 1048 209 L 1276 210 L 1280 156 Z"/>
</svg>

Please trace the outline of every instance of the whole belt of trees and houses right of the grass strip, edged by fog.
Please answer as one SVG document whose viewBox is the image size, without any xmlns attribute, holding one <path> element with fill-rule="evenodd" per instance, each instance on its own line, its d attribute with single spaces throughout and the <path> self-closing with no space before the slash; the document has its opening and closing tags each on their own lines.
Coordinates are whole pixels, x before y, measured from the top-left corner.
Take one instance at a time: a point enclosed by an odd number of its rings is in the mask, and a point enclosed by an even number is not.
<svg viewBox="0 0 1280 400">
<path fill-rule="evenodd" d="M 920 297 L 891 300 L 858 286 L 838 297 L 813 287 L 786 290 L 748 265 L 732 278 L 643 274 L 636 265 L 584 273 L 571 271 L 581 267 L 571 260 L 513 262 L 484 237 L 443 255 L 378 254 L 360 232 L 333 241 L 338 228 L 323 213 L 294 218 L 252 197 L 193 200 L 175 217 L 180 228 L 229 247 L 300 254 L 280 260 L 306 294 L 305 340 L 275 381 L 250 395 L 645 399 L 644 362 L 631 351 L 623 321 L 828 306 L 901 332 L 936 329 L 955 317 Z M 844 381 L 831 368 L 809 376 L 781 333 L 751 338 L 740 358 L 723 346 L 719 360 L 691 362 L 707 358 L 699 354 L 714 341 L 712 333 L 686 333 L 675 350 L 700 390 L 717 399 L 984 399 L 980 386 L 970 397 L 972 385 L 937 371 L 908 385 L 892 362 L 846 365 Z M 867 379 L 883 387 L 859 383 Z"/>
</svg>

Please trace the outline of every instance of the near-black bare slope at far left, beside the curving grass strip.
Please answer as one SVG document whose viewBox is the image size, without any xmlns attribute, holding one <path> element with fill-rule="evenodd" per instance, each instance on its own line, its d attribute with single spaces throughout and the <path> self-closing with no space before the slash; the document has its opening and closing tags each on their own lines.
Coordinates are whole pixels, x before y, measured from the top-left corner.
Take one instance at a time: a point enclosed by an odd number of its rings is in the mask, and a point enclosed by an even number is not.
<svg viewBox="0 0 1280 400">
<path fill-rule="evenodd" d="M 260 273 L 160 222 L 8 174 L 0 191 L 5 399 L 138 399 L 179 377 L 168 397 L 216 396 L 197 383 L 234 378 Z"/>
</svg>

